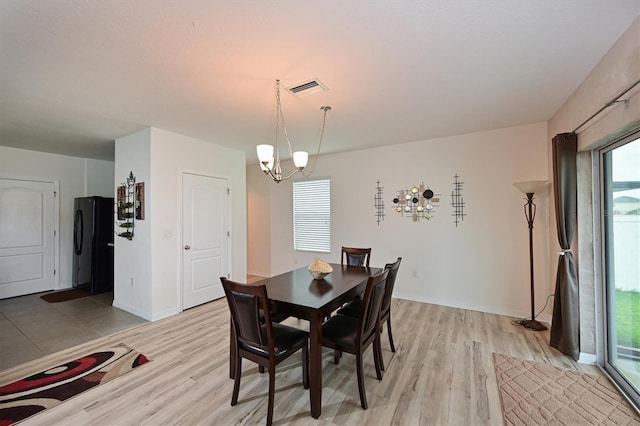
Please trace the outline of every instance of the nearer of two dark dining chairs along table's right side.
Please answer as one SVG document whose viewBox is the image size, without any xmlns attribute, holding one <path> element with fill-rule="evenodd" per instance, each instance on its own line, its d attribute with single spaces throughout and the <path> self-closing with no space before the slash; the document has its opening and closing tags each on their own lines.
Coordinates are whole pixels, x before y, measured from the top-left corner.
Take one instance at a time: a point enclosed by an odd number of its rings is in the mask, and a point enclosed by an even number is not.
<svg viewBox="0 0 640 426">
<path fill-rule="evenodd" d="M 322 346 L 334 351 L 347 352 L 356 357 L 356 373 L 358 377 L 358 391 L 360 405 L 367 409 L 367 395 L 364 389 L 363 354 L 373 344 L 373 360 L 376 367 L 376 377 L 382 380 L 380 360 L 380 306 L 384 298 L 389 270 L 369 277 L 362 298 L 362 310 L 358 318 L 336 314 L 322 324 Z M 334 358 L 334 362 L 339 362 Z"/>
</svg>

